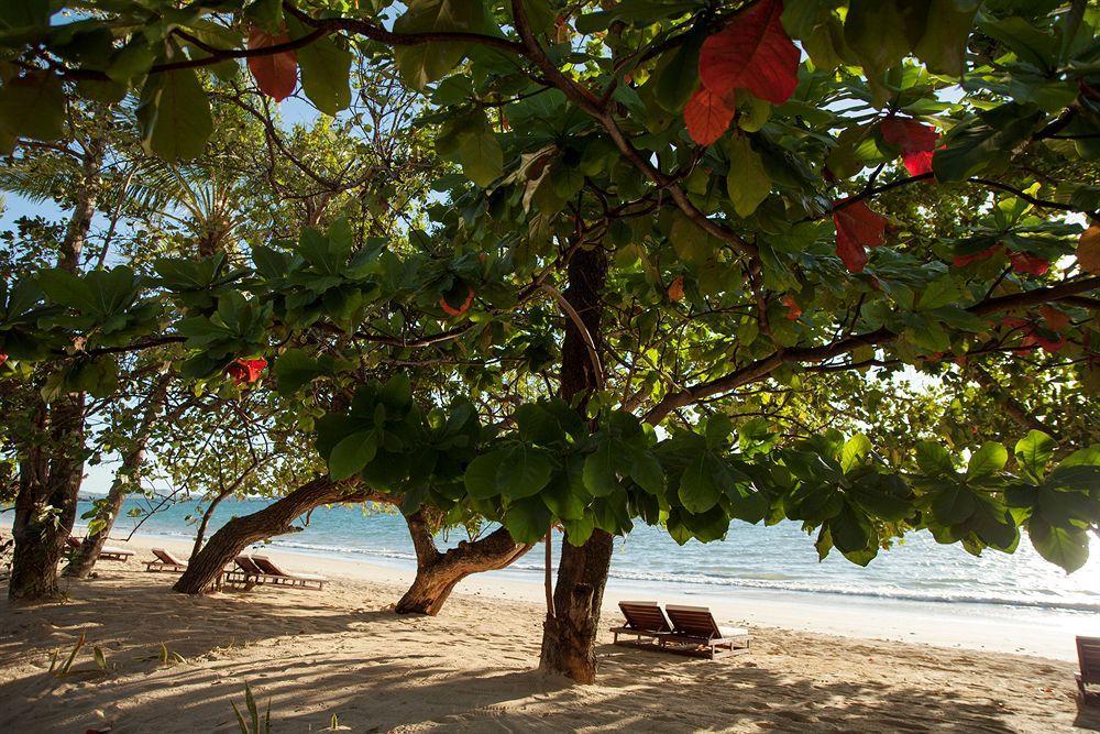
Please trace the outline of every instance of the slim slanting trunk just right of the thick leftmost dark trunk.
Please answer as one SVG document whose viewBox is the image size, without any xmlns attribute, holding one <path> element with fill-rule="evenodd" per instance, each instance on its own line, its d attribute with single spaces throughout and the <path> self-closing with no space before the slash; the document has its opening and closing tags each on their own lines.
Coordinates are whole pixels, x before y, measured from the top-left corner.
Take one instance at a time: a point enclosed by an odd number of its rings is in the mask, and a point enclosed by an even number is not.
<svg viewBox="0 0 1100 734">
<path fill-rule="evenodd" d="M 111 489 L 107 493 L 107 502 L 99 506 L 99 512 L 96 513 L 96 517 L 92 521 L 94 525 L 89 524 L 89 527 L 95 526 L 96 529 L 89 532 L 85 536 L 80 547 L 73 552 L 73 558 L 65 568 L 65 576 L 75 579 L 87 579 L 91 574 L 96 561 L 99 560 L 99 554 L 102 551 L 103 546 L 107 545 L 107 539 L 111 535 L 114 521 L 118 519 L 119 513 L 122 511 L 122 503 L 125 502 L 127 494 L 141 483 L 141 468 L 145 462 L 145 447 L 148 445 L 150 435 L 153 432 L 153 425 L 156 423 L 161 410 L 164 409 L 165 402 L 168 399 L 168 384 L 170 382 L 170 373 L 165 373 L 157 377 L 153 384 L 153 390 L 147 397 L 145 414 L 138 426 L 134 445 L 125 457 L 123 457 L 122 465 L 114 474 L 114 481 L 111 482 Z"/>
</svg>

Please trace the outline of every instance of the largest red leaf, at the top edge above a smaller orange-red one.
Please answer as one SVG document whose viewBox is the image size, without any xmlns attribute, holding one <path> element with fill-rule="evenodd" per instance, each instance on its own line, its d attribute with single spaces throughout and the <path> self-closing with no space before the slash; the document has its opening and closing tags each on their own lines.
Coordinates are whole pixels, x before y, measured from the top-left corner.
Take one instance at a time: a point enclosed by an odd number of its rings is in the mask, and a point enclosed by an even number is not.
<svg viewBox="0 0 1100 734">
<path fill-rule="evenodd" d="M 782 13 L 782 0 L 760 0 L 704 41 L 703 86 L 723 96 L 748 89 L 773 105 L 790 99 L 799 86 L 799 48 L 779 21 Z"/>
</svg>

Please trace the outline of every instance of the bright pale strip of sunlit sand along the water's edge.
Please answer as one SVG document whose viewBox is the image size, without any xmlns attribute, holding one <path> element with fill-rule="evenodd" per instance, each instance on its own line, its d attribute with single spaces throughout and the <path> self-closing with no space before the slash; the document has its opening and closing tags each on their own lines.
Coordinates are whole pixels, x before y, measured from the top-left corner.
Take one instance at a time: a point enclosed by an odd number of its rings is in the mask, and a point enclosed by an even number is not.
<svg viewBox="0 0 1100 734">
<path fill-rule="evenodd" d="M 143 551 L 163 546 L 184 556 L 190 552 L 191 546 L 182 537 L 151 533 L 136 534 L 130 543 L 113 539 L 110 543 Z M 371 556 L 367 552 L 343 556 L 337 551 L 274 544 L 264 547 L 263 552 L 295 570 L 397 588 L 407 588 L 416 571 L 411 559 L 403 562 L 399 558 Z M 369 557 L 370 560 L 361 557 Z M 105 562 L 103 568 L 109 570 L 114 567 L 117 565 Z M 130 570 L 138 568 L 136 561 L 131 561 L 129 567 L 133 567 Z M 531 570 L 503 569 L 477 573 L 460 582 L 454 593 L 544 604 L 541 574 Z M 1100 634 L 1100 615 L 1085 611 L 735 585 L 715 588 L 614 576 L 607 583 L 601 627 L 609 627 L 613 621 L 619 618 L 617 603 L 626 599 L 706 605 L 714 610 L 719 621 L 738 626 L 1012 653 L 1056 660 L 1076 660 L 1076 635 Z M 397 596 L 394 596 L 389 603 L 396 601 Z M 442 613 L 447 613 L 446 605 Z"/>
</svg>

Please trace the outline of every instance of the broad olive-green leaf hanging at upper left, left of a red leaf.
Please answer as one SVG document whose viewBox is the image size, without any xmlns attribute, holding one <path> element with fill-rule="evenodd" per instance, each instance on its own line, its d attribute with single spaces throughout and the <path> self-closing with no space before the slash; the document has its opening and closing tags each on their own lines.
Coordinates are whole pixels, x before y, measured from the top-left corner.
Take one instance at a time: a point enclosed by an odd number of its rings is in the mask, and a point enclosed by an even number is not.
<svg viewBox="0 0 1100 734">
<path fill-rule="evenodd" d="M 210 100 L 194 69 L 151 75 L 138 103 L 142 145 L 165 161 L 202 154 L 213 131 Z"/>
</svg>

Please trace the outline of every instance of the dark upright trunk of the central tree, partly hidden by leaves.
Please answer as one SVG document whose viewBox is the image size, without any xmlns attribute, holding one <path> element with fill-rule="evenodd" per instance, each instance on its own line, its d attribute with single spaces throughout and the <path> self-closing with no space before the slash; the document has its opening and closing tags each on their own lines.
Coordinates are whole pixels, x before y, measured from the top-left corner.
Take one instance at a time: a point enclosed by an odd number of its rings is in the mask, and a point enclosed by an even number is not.
<svg viewBox="0 0 1100 734">
<path fill-rule="evenodd" d="M 564 297 L 584 330 L 572 317 L 565 319 L 561 395 L 574 403 L 582 415 L 592 393 L 603 387 L 598 364 L 603 346 L 600 321 L 604 309 L 601 291 L 606 277 L 607 256 L 602 249 L 573 253 Z M 604 530 L 595 530 L 580 547 L 562 541 L 554 609 L 547 612 L 542 628 L 539 667 L 543 670 L 564 673 L 582 683 L 595 679 L 596 628 L 610 559 L 612 536 Z"/>
</svg>

